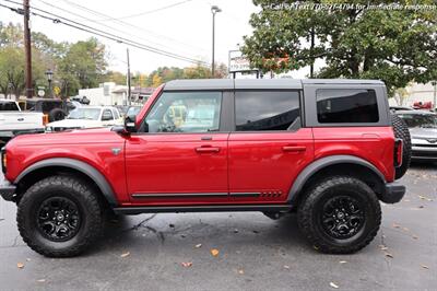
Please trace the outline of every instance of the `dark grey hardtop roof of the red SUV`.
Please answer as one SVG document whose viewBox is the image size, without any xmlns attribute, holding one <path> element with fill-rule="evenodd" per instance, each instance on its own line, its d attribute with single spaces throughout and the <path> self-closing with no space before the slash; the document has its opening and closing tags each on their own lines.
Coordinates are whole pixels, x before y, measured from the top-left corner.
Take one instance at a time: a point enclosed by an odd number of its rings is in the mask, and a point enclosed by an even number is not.
<svg viewBox="0 0 437 291">
<path fill-rule="evenodd" d="M 302 90 L 305 84 L 373 84 L 383 85 L 379 80 L 351 79 L 190 79 L 174 80 L 165 84 L 165 91 L 179 90 L 233 90 L 276 89 Z"/>
</svg>

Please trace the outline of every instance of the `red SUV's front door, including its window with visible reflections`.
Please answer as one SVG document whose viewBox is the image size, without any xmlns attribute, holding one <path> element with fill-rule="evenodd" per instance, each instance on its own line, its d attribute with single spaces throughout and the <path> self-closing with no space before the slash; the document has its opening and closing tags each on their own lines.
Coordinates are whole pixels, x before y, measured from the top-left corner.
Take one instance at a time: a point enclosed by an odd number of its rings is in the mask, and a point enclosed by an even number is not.
<svg viewBox="0 0 437 291">
<path fill-rule="evenodd" d="M 134 205 L 228 201 L 227 139 L 222 92 L 163 92 L 126 143 L 128 190 Z"/>
</svg>

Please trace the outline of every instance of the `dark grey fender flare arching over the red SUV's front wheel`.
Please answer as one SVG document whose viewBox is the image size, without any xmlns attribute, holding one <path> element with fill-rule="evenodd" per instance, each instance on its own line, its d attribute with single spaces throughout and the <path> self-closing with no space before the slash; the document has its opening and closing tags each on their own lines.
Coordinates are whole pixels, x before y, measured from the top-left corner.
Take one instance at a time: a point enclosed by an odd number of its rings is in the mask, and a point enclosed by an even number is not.
<svg viewBox="0 0 437 291">
<path fill-rule="evenodd" d="M 97 185 L 97 187 L 101 189 L 102 194 L 106 198 L 106 200 L 109 202 L 110 206 L 115 207 L 118 205 L 116 196 L 114 194 L 113 187 L 110 184 L 107 182 L 105 176 L 98 172 L 94 166 L 84 163 L 79 160 L 74 159 L 68 159 L 68 158 L 54 158 L 54 159 L 47 159 L 43 160 L 39 162 L 36 162 L 32 164 L 31 166 L 26 167 L 14 181 L 13 184 L 17 185 L 20 181 L 22 181 L 26 175 L 31 174 L 32 172 L 44 168 L 44 167 L 50 167 L 50 166 L 62 166 L 62 167 L 69 167 L 76 170 L 81 172 L 82 174 L 86 175 L 90 177 L 94 183 Z"/>
</svg>

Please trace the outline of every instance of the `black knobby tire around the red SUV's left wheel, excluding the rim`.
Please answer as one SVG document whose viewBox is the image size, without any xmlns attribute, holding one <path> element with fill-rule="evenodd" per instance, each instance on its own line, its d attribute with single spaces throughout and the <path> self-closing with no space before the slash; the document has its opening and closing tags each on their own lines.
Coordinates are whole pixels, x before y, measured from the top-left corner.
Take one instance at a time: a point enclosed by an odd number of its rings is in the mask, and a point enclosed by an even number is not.
<svg viewBox="0 0 437 291">
<path fill-rule="evenodd" d="M 51 197 L 67 198 L 75 203 L 81 224 L 75 235 L 54 242 L 37 228 L 37 209 Z M 23 241 L 47 257 L 72 257 L 88 248 L 104 231 L 104 207 L 86 182 L 71 176 L 51 176 L 31 186 L 20 200 L 16 222 Z"/>
</svg>

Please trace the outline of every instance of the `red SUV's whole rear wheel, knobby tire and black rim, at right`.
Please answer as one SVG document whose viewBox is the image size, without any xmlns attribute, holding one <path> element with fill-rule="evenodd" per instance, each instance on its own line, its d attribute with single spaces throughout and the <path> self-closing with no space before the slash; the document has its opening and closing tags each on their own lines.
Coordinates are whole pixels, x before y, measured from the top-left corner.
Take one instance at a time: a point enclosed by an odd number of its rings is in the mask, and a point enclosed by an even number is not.
<svg viewBox="0 0 437 291">
<path fill-rule="evenodd" d="M 374 240 L 381 209 L 375 193 L 364 182 L 334 176 L 309 188 L 297 217 L 300 230 L 316 249 L 351 254 Z"/>
</svg>

